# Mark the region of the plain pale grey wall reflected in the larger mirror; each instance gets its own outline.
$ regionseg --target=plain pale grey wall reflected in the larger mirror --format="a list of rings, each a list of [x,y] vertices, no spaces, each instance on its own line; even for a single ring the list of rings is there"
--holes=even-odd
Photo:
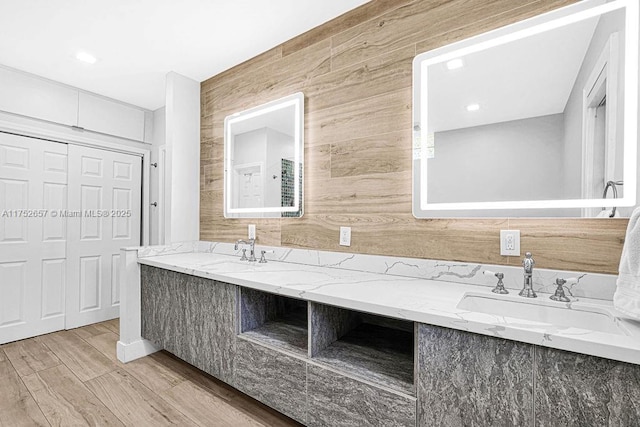
[[[555,199],[562,194],[562,140],[562,114],[436,133],[428,200]]]

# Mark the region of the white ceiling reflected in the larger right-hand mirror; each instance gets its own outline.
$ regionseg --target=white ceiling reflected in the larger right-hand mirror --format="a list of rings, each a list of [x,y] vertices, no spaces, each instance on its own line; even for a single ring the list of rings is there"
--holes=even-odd
[[[564,111],[598,17],[429,67],[429,124],[443,132]],[[466,111],[477,103],[480,110]]]

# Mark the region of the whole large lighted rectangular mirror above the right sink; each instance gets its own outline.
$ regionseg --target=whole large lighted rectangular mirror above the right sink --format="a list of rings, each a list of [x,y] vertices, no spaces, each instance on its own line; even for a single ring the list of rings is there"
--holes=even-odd
[[[414,215],[628,216],[638,19],[587,0],[418,55]]]

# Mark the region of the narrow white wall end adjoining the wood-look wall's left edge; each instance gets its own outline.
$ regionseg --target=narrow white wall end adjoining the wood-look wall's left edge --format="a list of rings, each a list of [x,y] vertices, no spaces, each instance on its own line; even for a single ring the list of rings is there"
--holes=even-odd
[[[200,83],[167,74],[165,243],[200,238]]]

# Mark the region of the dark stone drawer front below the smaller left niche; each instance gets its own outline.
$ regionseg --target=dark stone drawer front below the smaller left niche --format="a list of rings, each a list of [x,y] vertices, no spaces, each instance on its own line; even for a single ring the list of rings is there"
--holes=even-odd
[[[307,363],[242,338],[236,350],[235,387],[305,423]]]

